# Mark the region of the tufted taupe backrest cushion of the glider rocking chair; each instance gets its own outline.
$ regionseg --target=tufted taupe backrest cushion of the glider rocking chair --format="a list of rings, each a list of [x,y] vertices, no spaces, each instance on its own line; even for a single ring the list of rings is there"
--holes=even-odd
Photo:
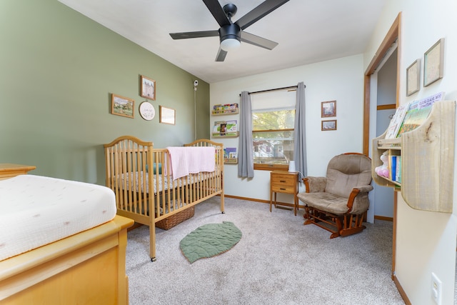
[[[328,162],[326,193],[347,199],[353,187],[369,184],[371,184],[371,159],[368,157],[358,154],[340,154]]]

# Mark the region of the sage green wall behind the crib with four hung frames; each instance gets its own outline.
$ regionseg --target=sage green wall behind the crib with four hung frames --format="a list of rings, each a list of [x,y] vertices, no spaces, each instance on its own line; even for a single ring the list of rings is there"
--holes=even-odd
[[[195,76],[56,0],[0,1],[0,163],[104,185],[103,144],[133,135],[154,147],[194,141]],[[139,76],[156,81],[152,121],[139,116]],[[111,114],[111,93],[135,100]],[[199,79],[197,138],[209,138],[209,84]],[[159,105],[176,125],[159,124]]]

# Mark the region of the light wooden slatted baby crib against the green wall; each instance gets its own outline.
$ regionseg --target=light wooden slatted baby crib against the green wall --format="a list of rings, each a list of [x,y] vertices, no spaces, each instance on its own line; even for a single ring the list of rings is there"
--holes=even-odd
[[[224,213],[223,144],[201,139],[184,146],[214,147],[216,170],[174,180],[171,173],[164,170],[171,168],[167,149],[153,149],[152,142],[134,136],[120,136],[104,145],[106,186],[116,194],[117,214],[149,226],[151,261],[156,261],[158,221],[176,216],[217,195],[221,196],[221,212]]]

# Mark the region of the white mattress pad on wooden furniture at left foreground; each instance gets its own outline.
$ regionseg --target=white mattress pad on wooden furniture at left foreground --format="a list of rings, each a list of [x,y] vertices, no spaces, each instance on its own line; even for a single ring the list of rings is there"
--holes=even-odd
[[[21,175],[0,181],[0,261],[104,224],[116,216],[106,186]]]

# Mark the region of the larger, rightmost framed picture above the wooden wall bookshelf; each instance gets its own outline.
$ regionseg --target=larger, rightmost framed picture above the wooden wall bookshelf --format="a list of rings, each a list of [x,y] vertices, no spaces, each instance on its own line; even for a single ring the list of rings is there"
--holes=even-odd
[[[436,41],[423,54],[423,86],[426,87],[438,79],[443,78],[444,66],[444,39]]]

